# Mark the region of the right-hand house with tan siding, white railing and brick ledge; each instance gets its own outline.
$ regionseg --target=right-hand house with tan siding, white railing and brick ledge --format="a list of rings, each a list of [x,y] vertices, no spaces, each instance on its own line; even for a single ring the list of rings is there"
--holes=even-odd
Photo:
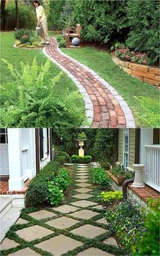
[[[144,187],[127,186],[129,199],[146,206],[147,198],[158,198],[160,191],[160,145],[159,129],[119,129],[117,141],[117,162],[125,168],[134,169],[133,164],[144,164],[141,171]],[[115,188],[121,187],[114,183]]]

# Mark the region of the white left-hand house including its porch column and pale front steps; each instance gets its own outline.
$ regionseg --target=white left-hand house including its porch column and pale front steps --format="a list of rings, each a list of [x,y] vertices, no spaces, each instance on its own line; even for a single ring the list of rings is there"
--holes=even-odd
[[[24,207],[26,183],[52,160],[52,130],[0,129],[0,242]]]

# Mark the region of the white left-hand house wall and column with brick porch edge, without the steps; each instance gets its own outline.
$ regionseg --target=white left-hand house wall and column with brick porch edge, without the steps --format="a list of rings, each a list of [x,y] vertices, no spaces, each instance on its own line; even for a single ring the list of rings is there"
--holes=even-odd
[[[52,130],[1,128],[0,136],[1,197],[20,194],[25,182],[52,159]]]

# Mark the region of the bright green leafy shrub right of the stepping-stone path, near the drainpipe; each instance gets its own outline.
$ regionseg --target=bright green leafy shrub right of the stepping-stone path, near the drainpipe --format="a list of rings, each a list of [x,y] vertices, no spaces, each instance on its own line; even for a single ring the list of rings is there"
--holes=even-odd
[[[102,189],[110,189],[111,188],[111,178],[106,173],[106,170],[102,168],[92,168],[91,169],[92,182],[96,185],[100,185]]]

